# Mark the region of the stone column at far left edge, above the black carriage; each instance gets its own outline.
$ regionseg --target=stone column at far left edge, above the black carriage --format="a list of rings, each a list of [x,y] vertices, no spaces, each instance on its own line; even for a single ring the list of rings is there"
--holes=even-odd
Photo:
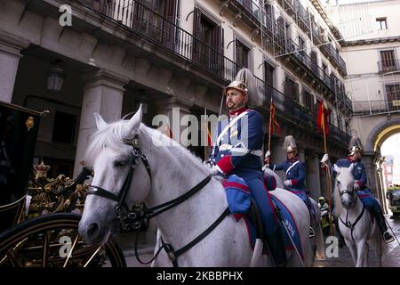
[[[12,102],[20,51],[28,45],[28,40],[0,29],[0,101]]]

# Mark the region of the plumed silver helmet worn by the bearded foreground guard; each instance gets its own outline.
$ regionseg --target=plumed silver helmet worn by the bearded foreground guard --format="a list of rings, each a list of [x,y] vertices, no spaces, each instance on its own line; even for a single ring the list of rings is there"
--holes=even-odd
[[[236,74],[235,80],[224,88],[224,94],[230,88],[247,94],[247,105],[250,108],[259,107],[264,100],[263,94],[259,92],[259,88],[257,87],[256,78],[252,75],[250,69],[240,69]]]

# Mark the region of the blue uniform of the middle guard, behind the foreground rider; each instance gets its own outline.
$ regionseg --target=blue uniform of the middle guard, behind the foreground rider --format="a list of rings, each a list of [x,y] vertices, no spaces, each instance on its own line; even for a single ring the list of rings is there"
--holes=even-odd
[[[273,171],[284,170],[286,179],[290,180],[292,183],[291,186],[285,186],[285,188],[302,199],[309,208],[306,186],[304,184],[306,180],[306,166],[304,162],[301,162],[297,158],[286,159],[278,165],[269,164],[269,168]]]

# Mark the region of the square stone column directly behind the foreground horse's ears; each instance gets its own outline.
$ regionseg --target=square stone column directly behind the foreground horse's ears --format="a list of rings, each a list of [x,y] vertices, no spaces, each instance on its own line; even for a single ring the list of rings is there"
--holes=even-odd
[[[84,151],[90,143],[92,134],[97,131],[93,113],[99,113],[107,123],[120,119],[124,85],[128,84],[129,78],[101,69],[85,74],[84,82],[86,84],[76,146],[74,177],[81,171],[80,160],[84,159]]]

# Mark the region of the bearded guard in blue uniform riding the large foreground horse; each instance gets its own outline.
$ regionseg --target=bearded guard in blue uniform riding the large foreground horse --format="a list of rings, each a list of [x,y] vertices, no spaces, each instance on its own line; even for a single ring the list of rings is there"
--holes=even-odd
[[[236,80],[224,89],[229,115],[217,126],[210,157],[212,172],[214,175],[235,174],[244,179],[260,209],[271,255],[277,266],[284,266],[287,262],[284,236],[261,171],[263,120],[258,111],[249,108],[260,102],[252,79],[249,69],[241,69]]]

